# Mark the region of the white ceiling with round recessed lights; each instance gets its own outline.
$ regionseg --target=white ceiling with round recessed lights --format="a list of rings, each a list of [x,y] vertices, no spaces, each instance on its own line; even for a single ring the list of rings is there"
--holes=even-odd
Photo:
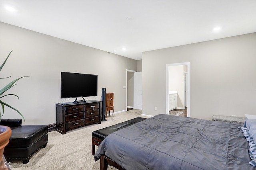
[[[256,0],[0,0],[0,21],[138,60],[256,32]]]

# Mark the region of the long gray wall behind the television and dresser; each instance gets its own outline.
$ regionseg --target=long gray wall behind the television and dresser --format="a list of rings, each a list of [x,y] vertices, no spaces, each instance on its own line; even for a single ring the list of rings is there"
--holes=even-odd
[[[122,86],[126,86],[126,69],[136,70],[136,60],[0,22],[1,64],[12,49],[0,72],[0,77],[12,78],[1,79],[0,88],[20,76],[30,76],[19,80],[9,91],[19,100],[15,96],[2,99],[24,115],[23,124],[55,123],[54,104],[63,101],[62,71],[98,74],[98,96],[88,100],[101,100],[101,89],[106,88],[106,92],[114,92],[115,112],[126,109],[126,89]],[[3,118],[21,117],[5,107]]]

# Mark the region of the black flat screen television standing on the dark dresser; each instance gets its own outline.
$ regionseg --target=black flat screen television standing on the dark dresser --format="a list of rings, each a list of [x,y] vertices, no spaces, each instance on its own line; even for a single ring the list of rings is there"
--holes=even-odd
[[[60,89],[60,98],[76,98],[74,102],[79,102],[78,97],[97,96],[98,75],[61,72]]]

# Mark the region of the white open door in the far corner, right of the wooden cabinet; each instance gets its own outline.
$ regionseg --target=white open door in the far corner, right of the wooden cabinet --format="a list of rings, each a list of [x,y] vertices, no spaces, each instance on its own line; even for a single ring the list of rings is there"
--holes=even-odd
[[[142,110],[142,72],[134,72],[134,109]]]

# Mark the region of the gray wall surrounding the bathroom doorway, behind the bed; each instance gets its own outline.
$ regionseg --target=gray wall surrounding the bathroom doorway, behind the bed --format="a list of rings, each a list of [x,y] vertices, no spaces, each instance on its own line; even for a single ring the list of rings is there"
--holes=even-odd
[[[190,62],[191,117],[255,115],[255,47],[250,33],[142,53],[142,113],[166,113],[166,64]]]

